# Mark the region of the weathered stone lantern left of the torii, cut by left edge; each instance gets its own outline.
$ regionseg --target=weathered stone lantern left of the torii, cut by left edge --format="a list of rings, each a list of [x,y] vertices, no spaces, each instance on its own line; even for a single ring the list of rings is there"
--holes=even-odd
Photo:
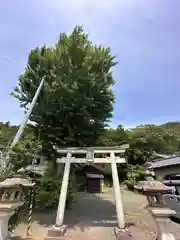
[[[32,187],[20,169],[12,178],[0,182],[0,240],[8,239],[8,222],[15,210],[24,204],[24,188]]]

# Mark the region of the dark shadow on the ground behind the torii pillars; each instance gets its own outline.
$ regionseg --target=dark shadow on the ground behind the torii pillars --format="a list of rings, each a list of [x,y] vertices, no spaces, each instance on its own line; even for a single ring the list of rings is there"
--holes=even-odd
[[[53,225],[55,219],[55,211],[33,216],[35,222],[45,227]],[[90,227],[115,227],[117,225],[115,205],[109,200],[102,199],[99,194],[77,193],[72,210],[65,213],[64,222],[68,228],[78,227],[81,231]]]

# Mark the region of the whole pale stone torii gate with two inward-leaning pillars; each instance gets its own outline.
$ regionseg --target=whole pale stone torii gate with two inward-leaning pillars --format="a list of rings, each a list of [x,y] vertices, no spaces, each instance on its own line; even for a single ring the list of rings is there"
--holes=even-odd
[[[58,149],[57,152],[60,154],[66,154],[66,157],[61,157],[57,159],[57,163],[65,163],[64,175],[62,179],[61,193],[59,197],[59,204],[56,216],[56,223],[48,231],[48,237],[46,240],[58,239],[65,234],[67,226],[64,225],[64,212],[65,204],[68,190],[69,174],[71,163],[110,163],[112,170],[113,188],[116,204],[116,214],[117,214],[117,231],[124,232],[125,222],[124,222],[124,212],[122,197],[119,185],[119,177],[117,171],[117,163],[125,163],[124,153],[126,149],[129,148],[128,144],[124,144],[119,147],[90,147],[90,148],[65,148]],[[85,154],[84,158],[75,157],[76,154]],[[98,155],[108,154],[110,157],[96,157]],[[116,154],[123,154],[123,157],[116,156]]]

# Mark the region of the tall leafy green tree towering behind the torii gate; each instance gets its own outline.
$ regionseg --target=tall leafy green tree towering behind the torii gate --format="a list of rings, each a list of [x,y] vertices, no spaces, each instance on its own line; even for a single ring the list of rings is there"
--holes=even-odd
[[[60,34],[52,47],[32,50],[13,95],[27,108],[45,77],[31,114],[35,131],[48,147],[94,145],[112,117],[115,57],[93,45],[82,27]]]

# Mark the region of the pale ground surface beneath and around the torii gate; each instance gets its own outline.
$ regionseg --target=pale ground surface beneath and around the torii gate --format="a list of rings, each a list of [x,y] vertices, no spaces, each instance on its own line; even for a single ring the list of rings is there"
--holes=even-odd
[[[154,221],[145,206],[146,198],[126,190],[122,190],[125,218],[136,224],[138,240],[153,240],[156,233]],[[33,236],[43,240],[49,226],[54,224],[55,214],[34,214]],[[103,194],[88,195],[78,193],[73,204],[73,210],[67,211],[65,223],[68,233],[65,239],[73,240],[111,240],[113,229],[117,225],[112,189],[106,189]],[[27,224],[22,223],[16,230],[18,235],[25,235]],[[132,227],[132,231],[133,231]],[[170,230],[180,240],[180,225],[170,224]],[[178,236],[179,235],[179,236]]]

